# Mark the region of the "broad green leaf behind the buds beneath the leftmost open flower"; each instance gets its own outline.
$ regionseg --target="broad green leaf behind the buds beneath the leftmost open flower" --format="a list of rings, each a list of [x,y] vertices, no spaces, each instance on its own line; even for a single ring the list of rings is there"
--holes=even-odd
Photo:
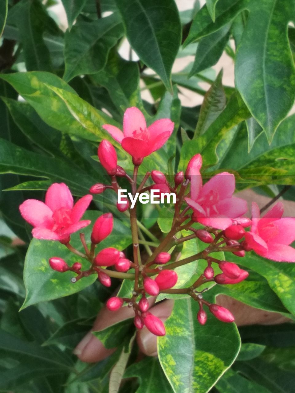
[[[99,212],[89,211],[85,213],[84,217],[85,219],[91,219],[92,223],[94,223],[98,215]],[[90,238],[91,230],[91,224],[83,229],[87,240]],[[77,250],[82,251],[83,246],[79,238],[79,233],[74,233],[71,239],[71,244]],[[128,231],[128,228],[120,221],[115,220],[111,235],[98,246],[98,250],[110,246],[115,246],[119,250],[123,250],[131,242],[131,233]],[[70,281],[75,276],[73,272],[59,273],[50,268],[48,259],[52,256],[59,256],[65,259],[70,266],[78,259],[82,263],[83,269],[89,268],[88,261],[71,253],[63,244],[54,241],[33,239],[28,248],[24,265],[26,299],[22,305],[22,309],[40,301],[48,301],[74,294],[91,285],[97,279],[96,274],[92,274],[89,277],[83,277],[83,279],[73,284]]]

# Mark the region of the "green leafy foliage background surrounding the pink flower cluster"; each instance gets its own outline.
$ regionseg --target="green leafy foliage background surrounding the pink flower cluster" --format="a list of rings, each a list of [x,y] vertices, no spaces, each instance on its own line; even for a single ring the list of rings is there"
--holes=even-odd
[[[196,2],[194,9],[179,14],[181,22],[172,0],[102,0],[102,19],[94,1],[63,4],[70,26],[78,17],[65,32],[50,11],[51,1],[0,1],[0,29],[6,19],[0,47],[0,189],[10,190],[0,193],[0,391],[291,393],[293,323],[240,328],[240,349],[234,326],[210,319],[205,328],[196,325],[195,306],[188,299],[175,303],[167,337],[159,341],[160,361],[135,362],[128,321],[97,333],[105,345],[120,343],[112,356],[98,364],[77,361],[72,349],[118,283],[106,289],[89,277],[73,286],[68,273],[52,272],[48,257],[70,256],[61,245],[31,241],[18,205],[26,198],[42,199],[54,181],[65,181],[81,196],[102,180],[96,147],[108,136],[101,125],[121,123],[125,108],[132,105],[144,110],[149,123],[170,117],[176,124],[167,147],[144,160],[142,172],[172,174],[201,152],[204,176],[232,170],[238,189],[254,187],[269,196],[291,185],[284,198],[293,200],[294,118],[288,113],[295,94],[295,35],[292,26],[287,29],[293,0],[207,0],[208,9],[201,10]],[[181,31],[188,45],[180,47]],[[118,55],[126,34],[139,63],[134,54],[127,59]],[[175,57],[186,56],[194,62],[173,71],[170,83]],[[235,61],[237,89],[227,79],[221,84],[214,66],[221,56]],[[121,165],[130,165],[124,152],[118,154]],[[98,196],[89,217],[94,220],[101,209]],[[166,231],[169,214],[168,207],[159,217],[143,211],[142,222]],[[122,215],[117,215],[115,228],[103,246],[128,247],[131,239]],[[186,244],[183,255],[198,247],[195,241]],[[216,285],[208,292],[212,298],[230,294],[294,318],[292,264],[254,255],[232,261],[249,270],[249,279],[234,288]],[[181,285],[201,268],[201,262],[186,267]],[[179,348],[187,349],[186,356]]]

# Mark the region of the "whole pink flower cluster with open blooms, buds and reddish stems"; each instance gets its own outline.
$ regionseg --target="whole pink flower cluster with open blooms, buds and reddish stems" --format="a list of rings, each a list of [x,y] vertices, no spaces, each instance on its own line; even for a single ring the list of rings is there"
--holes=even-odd
[[[144,157],[162,147],[173,132],[173,127],[170,119],[157,120],[147,127],[143,114],[137,108],[126,110],[124,132],[112,125],[104,125],[103,128],[132,156],[134,171],[133,175],[129,176],[124,168],[118,166],[116,150],[109,141],[103,140],[98,147],[98,158],[111,181],[110,184],[98,183],[90,187],[92,194],[103,193],[106,189],[118,193],[120,178],[123,177],[130,183],[132,196],[152,189],[158,189],[160,194],[176,194],[170,232],[164,239],[160,239],[158,244],[151,243],[153,250],[149,247],[150,242],[145,239],[142,241],[147,247],[148,257],[144,258],[140,253],[136,204],[131,208],[127,197],[123,202],[117,203],[117,208],[119,212],[129,209],[133,239],[132,261],[124,252],[113,247],[96,252],[97,244],[103,242],[112,231],[111,213],[101,215],[94,222],[90,245],[85,235],[80,233],[84,253],[70,244],[70,235],[90,224],[89,220],[80,219],[92,200],[91,195],[83,196],[74,205],[68,187],[63,183],[55,183],[49,187],[45,203],[26,200],[20,205],[22,217],[34,227],[33,237],[59,241],[79,258],[90,263],[88,269],[82,270],[83,265],[79,261],[69,266],[60,257],[52,257],[49,264],[53,270],[61,273],[73,272],[76,274],[76,277],[72,277],[73,283],[90,274],[97,274],[99,281],[105,286],[111,286],[111,277],[133,280],[134,287],[130,297],[112,297],[107,301],[106,307],[111,311],[120,309],[124,303],[128,307],[133,307],[136,328],[142,329],[146,326],[157,336],[165,334],[165,327],[159,318],[149,312],[152,301],[149,301],[148,297],[157,297],[159,293],[187,294],[195,299],[199,304],[197,320],[201,325],[204,325],[207,319],[204,306],[219,320],[234,321],[229,310],[203,299],[201,292],[208,288],[203,291],[198,289],[208,282],[234,285],[245,280],[249,273],[236,263],[212,257],[212,253],[222,251],[245,257],[246,252],[253,250],[258,255],[274,261],[295,261],[295,250],[289,246],[295,239],[295,219],[282,218],[282,204],[278,202],[260,218],[258,206],[253,202],[252,218],[245,217],[246,201],[233,196],[234,175],[228,172],[219,173],[203,184],[200,154],[195,154],[185,170],[175,174],[173,181],[168,181],[164,173],[153,170],[151,173],[147,172],[138,185],[139,165]],[[182,230],[190,231],[191,234],[183,237]],[[148,230],[145,233],[147,236],[152,235]],[[152,237],[155,240],[153,235]],[[173,248],[194,238],[204,243],[203,250],[184,259],[175,258]],[[199,277],[195,277],[195,282],[191,286],[175,288],[178,280],[175,269],[187,263],[194,263],[198,259],[206,261],[205,270]]]

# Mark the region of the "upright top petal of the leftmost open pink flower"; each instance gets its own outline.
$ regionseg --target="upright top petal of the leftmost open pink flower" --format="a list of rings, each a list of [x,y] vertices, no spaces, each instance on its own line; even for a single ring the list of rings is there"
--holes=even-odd
[[[53,183],[46,192],[45,203],[52,211],[60,208],[72,209],[73,197],[70,189],[65,183]]]

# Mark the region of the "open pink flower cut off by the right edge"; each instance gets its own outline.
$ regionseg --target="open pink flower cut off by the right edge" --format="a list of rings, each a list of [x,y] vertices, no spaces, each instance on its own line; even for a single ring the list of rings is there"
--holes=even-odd
[[[278,202],[260,219],[260,211],[252,202],[252,226],[245,233],[247,248],[277,262],[295,262],[295,250],[289,246],[295,240],[295,218],[283,217],[282,202]]]

